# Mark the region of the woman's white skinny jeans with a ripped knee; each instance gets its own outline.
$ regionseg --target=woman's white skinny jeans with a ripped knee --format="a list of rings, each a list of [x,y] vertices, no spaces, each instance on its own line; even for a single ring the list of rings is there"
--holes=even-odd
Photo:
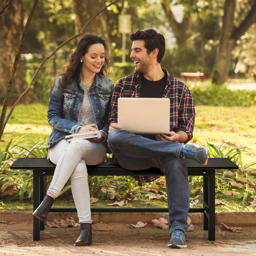
[[[62,139],[49,148],[48,160],[57,166],[47,193],[57,197],[70,177],[79,223],[92,222],[86,165],[99,165],[105,158],[105,145],[89,140]]]

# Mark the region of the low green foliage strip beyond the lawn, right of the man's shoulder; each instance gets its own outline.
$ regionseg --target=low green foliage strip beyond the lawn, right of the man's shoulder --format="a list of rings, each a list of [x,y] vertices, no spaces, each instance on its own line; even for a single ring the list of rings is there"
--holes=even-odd
[[[195,105],[211,106],[253,106],[256,100],[256,91],[232,91],[225,84],[218,85],[210,82],[187,85]]]

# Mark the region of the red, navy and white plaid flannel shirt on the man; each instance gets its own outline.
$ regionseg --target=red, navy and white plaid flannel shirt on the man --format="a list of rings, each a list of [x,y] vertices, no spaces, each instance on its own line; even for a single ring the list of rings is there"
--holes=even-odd
[[[195,124],[195,107],[193,98],[187,86],[175,77],[170,75],[165,68],[163,72],[167,73],[167,83],[163,92],[163,98],[170,99],[170,131],[184,131],[188,135],[187,143],[193,138],[193,129]],[[114,89],[111,101],[111,110],[109,123],[117,123],[117,99],[119,97],[140,97],[141,78],[140,73],[135,72],[120,79]],[[133,176],[140,182],[156,180],[160,176]]]

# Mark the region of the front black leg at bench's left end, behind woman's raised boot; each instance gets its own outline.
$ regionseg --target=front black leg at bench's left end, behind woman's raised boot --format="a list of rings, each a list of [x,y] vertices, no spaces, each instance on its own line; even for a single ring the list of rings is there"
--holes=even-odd
[[[39,207],[39,171],[33,170],[33,211]],[[40,239],[40,220],[33,216],[33,240]]]

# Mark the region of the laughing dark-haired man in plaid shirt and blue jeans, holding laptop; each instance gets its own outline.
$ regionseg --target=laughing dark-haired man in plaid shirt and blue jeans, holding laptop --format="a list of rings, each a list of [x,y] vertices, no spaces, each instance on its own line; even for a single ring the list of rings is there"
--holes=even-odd
[[[195,108],[186,85],[168,71],[160,62],[165,52],[165,38],[154,29],[137,30],[130,34],[130,57],[135,73],[120,79],[114,89],[109,116],[108,144],[119,164],[130,170],[159,168],[166,177],[169,209],[168,247],[187,247],[187,214],[189,186],[187,167],[183,157],[206,165],[207,147],[186,145],[193,137]],[[170,98],[170,133],[146,138],[122,130],[117,124],[117,99],[119,97]]]

